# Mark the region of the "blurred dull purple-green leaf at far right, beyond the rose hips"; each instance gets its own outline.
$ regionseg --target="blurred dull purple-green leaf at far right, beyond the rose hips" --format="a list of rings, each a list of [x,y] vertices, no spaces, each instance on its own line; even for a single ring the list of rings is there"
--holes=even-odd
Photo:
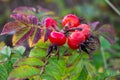
[[[107,39],[111,44],[115,43],[115,32],[111,25],[104,24],[98,29],[98,33]]]

